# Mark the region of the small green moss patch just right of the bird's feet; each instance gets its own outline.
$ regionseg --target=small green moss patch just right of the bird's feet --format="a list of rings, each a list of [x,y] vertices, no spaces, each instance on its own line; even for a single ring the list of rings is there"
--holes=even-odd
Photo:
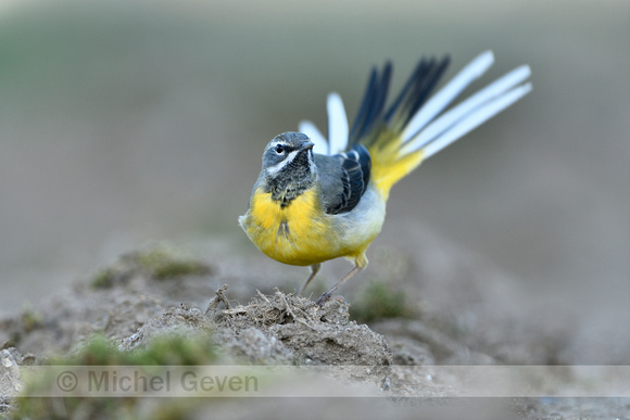
[[[413,309],[405,302],[402,291],[393,291],[382,281],[370,281],[362,295],[350,306],[350,316],[357,322],[380,318],[411,318]]]

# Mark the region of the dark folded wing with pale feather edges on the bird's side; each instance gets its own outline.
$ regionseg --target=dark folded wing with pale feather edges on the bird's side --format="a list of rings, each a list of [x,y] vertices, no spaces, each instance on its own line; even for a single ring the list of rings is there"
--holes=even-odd
[[[342,191],[325,209],[326,213],[336,215],[350,212],[358,204],[369,182],[371,158],[362,144],[354,144],[350,151],[331,157],[341,163]]]

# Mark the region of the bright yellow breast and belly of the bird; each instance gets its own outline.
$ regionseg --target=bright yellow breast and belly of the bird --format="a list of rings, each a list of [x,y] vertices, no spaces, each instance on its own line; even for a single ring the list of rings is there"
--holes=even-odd
[[[316,190],[304,192],[285,208],[270,193],[256,191],[239,222],[265,255],[285,264],[308,266],[365,251],[341,243],[332,216],[322,211]]]

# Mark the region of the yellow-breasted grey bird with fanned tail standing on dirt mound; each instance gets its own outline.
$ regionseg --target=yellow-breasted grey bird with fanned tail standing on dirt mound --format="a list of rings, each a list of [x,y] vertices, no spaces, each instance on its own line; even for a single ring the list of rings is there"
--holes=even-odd
[[[345,257],[354,267],[315,302],[367,266],[366,251],[381,231],[391,188],[420,163],[511,106],[531,91],[521,65],[450,105],[494,63],[492,51],[477,55],[436,93],[450,58],[421,58],[394,100],[386,106],[392,64],[370,72],[352,126],[341,97],[327,98],[328,139],[310,120],[299,131],[276,136],[265,147],[262,169],[239,225],[268,257],[311,273],[322,263]]]

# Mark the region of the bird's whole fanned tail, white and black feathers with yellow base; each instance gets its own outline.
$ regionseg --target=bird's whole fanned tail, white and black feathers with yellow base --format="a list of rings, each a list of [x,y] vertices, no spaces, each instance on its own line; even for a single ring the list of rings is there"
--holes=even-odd
[[[449,58],[423,59],[401,93],[386,111],[391,63],[371,71],[366,92],[349,129],[341,98],[328,96],[329,140],[310,122],[300,130],[315,142],[317,153],[335,154],[364,144],[371,155],[371,180],[387,200],[401,178],[455,140],[490,119],[531,90],[531,71],[522,65],[505,74],[459,104],[445,111],[494,63],[492,51],[479,54],[430,99],[449,65]],[[445,112],[444,112],[445,111]]]

